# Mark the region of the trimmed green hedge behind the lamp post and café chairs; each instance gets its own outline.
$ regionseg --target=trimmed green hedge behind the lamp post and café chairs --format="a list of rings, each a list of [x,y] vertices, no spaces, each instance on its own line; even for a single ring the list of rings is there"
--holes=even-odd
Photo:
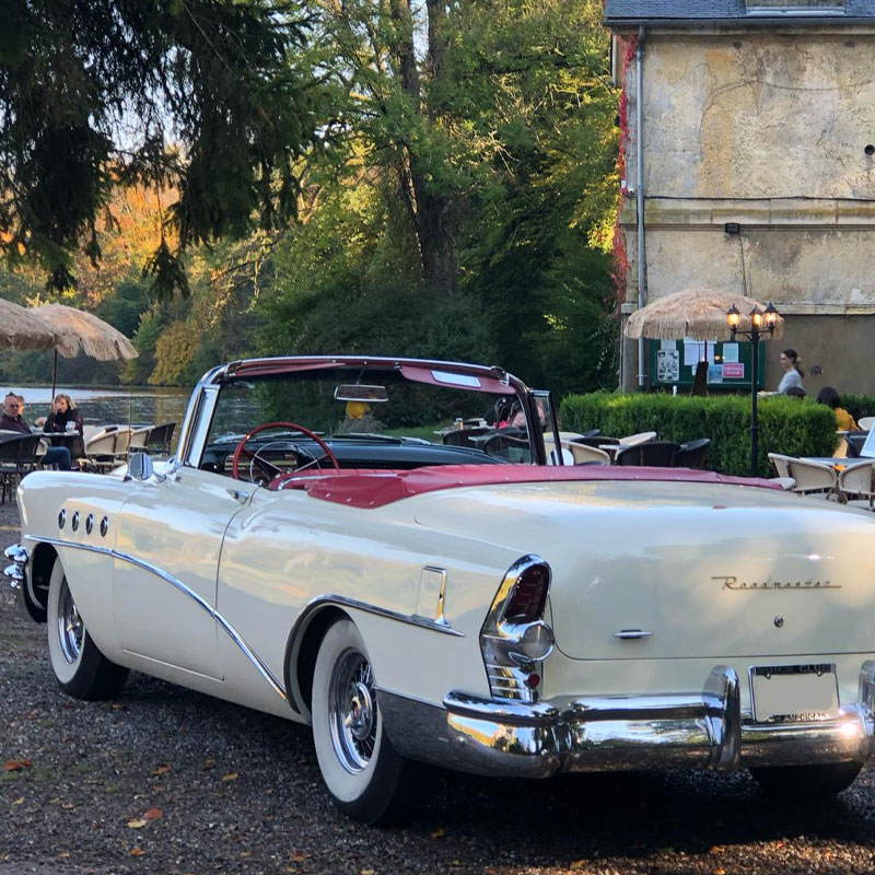
[[[758,401],[758,472],[772,474],[768,453],[788,456],[831,456],[836,447],[832,410],[809,399],[784,396]],[[672,396],[596,392],[569,395],[559,408],[560,428],[622,436],[655,431],[661,441],[710,438],[708,467],[721,474],[750,474],[750,398],[730,396]]]

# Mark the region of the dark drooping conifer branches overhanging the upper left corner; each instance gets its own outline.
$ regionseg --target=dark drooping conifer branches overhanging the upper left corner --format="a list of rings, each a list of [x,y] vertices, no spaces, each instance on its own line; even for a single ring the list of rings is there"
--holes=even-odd
[[[285,223],[318,144],[299,0],[0,0],[0,246],[74,283],[113,187],[173,187],[145,269],[186,291],[188,246]],[[112,221],[112,219],[109,220]]]

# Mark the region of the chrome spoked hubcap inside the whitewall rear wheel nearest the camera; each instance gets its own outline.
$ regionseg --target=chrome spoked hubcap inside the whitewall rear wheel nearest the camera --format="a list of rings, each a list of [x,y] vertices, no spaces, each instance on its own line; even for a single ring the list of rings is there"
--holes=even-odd
[[[376,744],[376,701],[371,666],[350,651],[338,660],[329,691],[331,743],[343,768],[368,768]]]

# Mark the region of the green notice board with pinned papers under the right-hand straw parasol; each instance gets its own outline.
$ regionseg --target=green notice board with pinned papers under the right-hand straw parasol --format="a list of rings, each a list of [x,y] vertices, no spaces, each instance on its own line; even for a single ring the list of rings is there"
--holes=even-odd
[[[692,386],[699,362],[707,361],[709,388],[750,388],[754,345],[749,340],[648,340],[648,346],[652,386]],[[757,343],[757,388],[760,389],[765,362],[762,342]]]

